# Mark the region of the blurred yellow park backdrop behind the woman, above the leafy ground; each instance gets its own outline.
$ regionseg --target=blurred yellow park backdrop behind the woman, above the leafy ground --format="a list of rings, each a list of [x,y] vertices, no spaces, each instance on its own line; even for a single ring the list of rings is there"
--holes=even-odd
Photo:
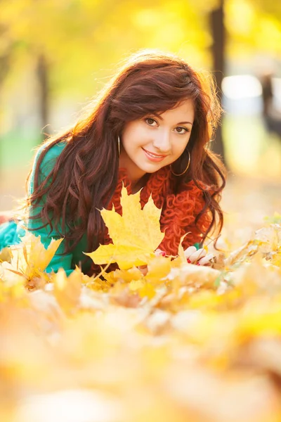
[[[226,110],[214,149],[239,186],[250,180],[249,191],[278,192],[280,2],[1,0],[0,9],[1,210],[25,195],[34,148],[46,134],[74,124],[119,63],[145,48],[214,72]]]

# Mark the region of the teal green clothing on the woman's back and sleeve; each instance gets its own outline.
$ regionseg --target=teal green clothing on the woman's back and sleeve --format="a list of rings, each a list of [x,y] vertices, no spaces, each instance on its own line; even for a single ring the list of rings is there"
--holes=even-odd
[[[41,162],[39,168],[39,184],[46,179],[48,174],[53,169],[55,165],[55,161],[57,160],[60,153],[65,148],[65,142],[58,143],[52,146],[44,159]],[[29,193],[32,193],[34,190],[34,172],[37,165],[38,158],[41,152],[44,150],[45,146],[39,148],[37,155],[34,160],[34,165],[32,167],[32,173],[30,175],[30,186],[29,186]],[[37,215],[39,213],[39,208],[42,207],[43,202],[38,205],[38,207],[34,207],[30,210],[30,215]],[[45,226],[44,228],[38,229],[42,225],[41,219],[29,219],[27,223],[27,229],[30,229],[31,233],[35,236],[41,236],[41,243],[43,243],[45,248],[48,248],[48,245],[51,243],[51,239],[57,240],[61,238],[58,236],[58,233],[53,230],[49,225]],[[36,229],[36,230],[34,230]],[[15,224],[15,222],[8,222],[5,224],[1,224],[0,226],[0,250],[5,248],[6,246],[15,245],[20,243],[21,237],[25,236],[25,230],[20,227],[19,224]],[[199,244],[195,244],[196,248],[199,248]],[[87,250],[87,238],[86,233],[81,238],[81,241],[77,244],[74,250],[71,253],[67,253],[65,255],[61,255],[65,250],[64,241],[60,243],[60,247],[58,248],[57,252],[53,256],[50,264],[46,268],[46,272],[51,271],[58,271],[59,268],[63,268],[67,275],[69,275],[76,266],[80,266],[81,269],[86,274],[90,267],[91,267],[91,259],[88,257],[85,262],[85,257],[83,252]],[[83,262],[84,261],[84,262]]]

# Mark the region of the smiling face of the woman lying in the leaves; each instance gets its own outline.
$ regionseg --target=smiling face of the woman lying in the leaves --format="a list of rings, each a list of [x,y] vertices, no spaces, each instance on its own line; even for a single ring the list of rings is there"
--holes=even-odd
[[[176,161],[188,144],[195,112],[192,100],[125,124],[119,166],[126,168],[131,181],[145,173],[157,172]]]

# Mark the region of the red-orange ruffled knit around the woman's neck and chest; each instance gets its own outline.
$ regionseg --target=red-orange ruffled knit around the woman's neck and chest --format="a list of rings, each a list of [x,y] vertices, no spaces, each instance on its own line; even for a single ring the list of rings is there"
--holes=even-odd
[[[122,185],[127,188],[129,194],[132,193],[131,181],[128,179],[126,170],[119,169],[119,179],[117,188],[107,209],[111,210],[112,205],[115,211],[122,215],[120,196]],[[195,217],[202,211],[204,200],[202,190],[195,186],[193,181],[183,183],[178,193],[173,193],[175,177],[171,174],[169,167],[163,167],[159,171],[150,174],[145,186],[141,189],[141,207],[148,202],[150,194],[158,208],[162,207],[160,217],[161,231],[165,232],[164,239],[159,245],[167,255],[177,255],[178,245],[181,237],[188,233],[183,240],[183,248],[202,240],[201,231],[205,231],[210,224],[209,214],[206,212],[200,217],[195,226]],[[112,243],[108,231],[104,234],[103,244]],[[92,268],[93,269],[93,268]]]

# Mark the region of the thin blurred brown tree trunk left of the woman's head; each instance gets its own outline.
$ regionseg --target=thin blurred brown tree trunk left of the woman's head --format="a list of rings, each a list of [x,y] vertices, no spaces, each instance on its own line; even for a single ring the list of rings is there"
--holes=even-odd
[[[49,84],[48,63],[44,53],[37,57],[37,77],[39,81],[39,115],[41,126],[41,139],[48,137],[48,107],[49,107]]]

